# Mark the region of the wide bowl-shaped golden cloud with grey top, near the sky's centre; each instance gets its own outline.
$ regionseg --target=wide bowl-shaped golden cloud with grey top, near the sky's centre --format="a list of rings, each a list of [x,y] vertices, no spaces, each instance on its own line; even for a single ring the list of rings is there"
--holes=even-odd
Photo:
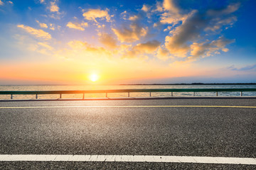
[[[144,37],[148,33],[148,28],[142,28],[137,23],[132,23],[129,28],[114,29],[115,35],[121,42],[134,42]]]

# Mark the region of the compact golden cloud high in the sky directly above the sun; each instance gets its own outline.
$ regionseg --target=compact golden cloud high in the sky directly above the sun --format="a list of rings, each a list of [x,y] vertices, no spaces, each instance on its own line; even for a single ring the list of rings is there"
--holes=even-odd
[[[110,21],[110,15],[108,10],[100,10],[100,9],[89,9],[88,11],[82,13],[82,16],[87,20],[96,21],[96,18],[105,18],[106,21]]]

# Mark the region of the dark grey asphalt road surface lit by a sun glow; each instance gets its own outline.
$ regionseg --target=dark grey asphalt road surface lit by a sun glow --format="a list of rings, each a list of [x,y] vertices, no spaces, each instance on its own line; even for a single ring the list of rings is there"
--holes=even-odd
[[[0,154],[256,157],[256,99],[0,102]],[[1,169],[256,169],[255,165],[150,162],[0,162]]]

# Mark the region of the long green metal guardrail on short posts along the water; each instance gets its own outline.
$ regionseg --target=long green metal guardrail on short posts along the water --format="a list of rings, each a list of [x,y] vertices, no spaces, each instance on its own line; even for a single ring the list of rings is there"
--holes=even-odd
[[[195,96],[196,92],[215,92],[216,96],[218,96],[218,92],[240,92],[240,96],[242,96],[242,92],[245,91],[256,91],[256,89],[119,89],[119,90],[90,90],[90,91],[0,91],[0,95],[11,95],[11,99],[13,99],[14,94],[35,94],[36,99],[39,94],[60,94],[60,98],[62,98],[62,94],[83,94],[82,99],[85,98],[85,94],[107,94],[110,93],[127,93],[128,97],[130,93],[151,93],[153,92],[171,92],[171,96],[174,96],[174,92],[193,92],[193,96]]]

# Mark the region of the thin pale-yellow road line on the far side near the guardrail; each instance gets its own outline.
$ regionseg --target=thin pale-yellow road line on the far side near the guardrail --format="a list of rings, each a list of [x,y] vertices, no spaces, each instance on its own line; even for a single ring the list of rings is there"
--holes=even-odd
[[[256,108],[256,106],[3,106],[1,108]]]

